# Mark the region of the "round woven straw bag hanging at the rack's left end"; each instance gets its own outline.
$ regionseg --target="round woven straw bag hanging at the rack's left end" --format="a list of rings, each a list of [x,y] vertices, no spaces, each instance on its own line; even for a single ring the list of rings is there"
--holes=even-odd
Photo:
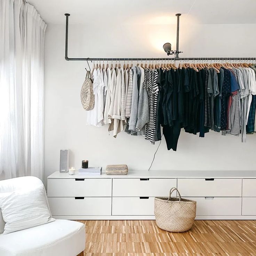
[[[94,108],[93,80],[90,71],[87,71],[85,81],[81,88],[81,102],[85,110]]]

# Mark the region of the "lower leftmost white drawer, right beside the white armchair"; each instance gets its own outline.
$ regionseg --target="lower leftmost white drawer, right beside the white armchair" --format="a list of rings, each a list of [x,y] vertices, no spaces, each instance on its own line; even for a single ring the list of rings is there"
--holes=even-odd
[[[49,197],[52,215],[111,215],[111,197]]]

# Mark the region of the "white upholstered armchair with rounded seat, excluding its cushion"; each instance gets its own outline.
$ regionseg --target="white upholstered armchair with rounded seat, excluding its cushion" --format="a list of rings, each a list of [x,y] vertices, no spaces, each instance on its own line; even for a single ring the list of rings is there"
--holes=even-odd
[[[0,181],[1,193],[14,192],[24,186],[31,189],[42,185],[36,177],[19,177]],[[85,225],[75,221],[56,221],[29,229],[2,234],[5,222],[0,209],[1,256],[83,256],[85,249]]]

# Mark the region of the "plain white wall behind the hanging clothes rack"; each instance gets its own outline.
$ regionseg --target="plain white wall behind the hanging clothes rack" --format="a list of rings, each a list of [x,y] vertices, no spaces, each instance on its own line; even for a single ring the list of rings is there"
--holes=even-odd
[[[246,57],[255,55],[255,24],[181,26],[179,49],[184,57]],[[175,49],[175,25],[103,23],[102,27],[70,25],[69,57],[167,57],[165,42]],[[125,163],[129,169],[148,169],[159,142],[122,132],[113,138],[107,126],[86,126],[80,102],[84,61],[65,61],[65,27],[48,24],[45,38],[45,177],[59,169],[59,150],[70,149],[70,166]],[[177,152],[167,151],[163,138],[152,170],[254,170],[256,136],[205,138],[182,131]]]

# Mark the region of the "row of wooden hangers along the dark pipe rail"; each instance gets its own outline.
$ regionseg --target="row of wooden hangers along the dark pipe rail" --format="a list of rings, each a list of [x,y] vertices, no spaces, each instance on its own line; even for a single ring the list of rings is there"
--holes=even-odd
[[[225,67],[226,69],[232,69],[234,67],[249,67],[249,66],[252,66],[253,64],[252,63],[229,63],[229,62],[225,62],[225,63],[179,63],[178,67],[175,65],[175,63],[149,63],[149,66],[147,66],[147,63],[145,62],[145,64],[141,63],[141,67],[143,69],[146,69],[146,68],[149,68],[149,69],[159,69],[159,68],[162,68],[162,69],[165,69],[165,70],[169,70],[169,69],[178,69],[178,68],[182,68],[184,67],[185,69],[188,68],[188,67],[191,67],[193,68],[195,71],[199,71],[201,69],[209,69],[209,68],[213,68],[217,73],[219,73],[219,70],[221,69],[221,67]],[[139,63],[137,63],[137,66],[139,66]],[[115,63],[115,68],[121,68],[121,64],[120,62]],[[131,65],[129,65],[129,63],[127,64],[123,64],[123,69],[129,69],[133,67],[133,63],[131,63]],[[103,62],[102,66],[101,66],[101,62],[96,63],[96,66],[95,66],[95,63],[93,64],[93,69],[105,69],[105,64]],[[106,69],[109,68],[109,63],[107,62],[106,64]],[[113,69],[114,66],[113,66],[113,62],[111,62],[111,65],[110,65],[110,68]]]

